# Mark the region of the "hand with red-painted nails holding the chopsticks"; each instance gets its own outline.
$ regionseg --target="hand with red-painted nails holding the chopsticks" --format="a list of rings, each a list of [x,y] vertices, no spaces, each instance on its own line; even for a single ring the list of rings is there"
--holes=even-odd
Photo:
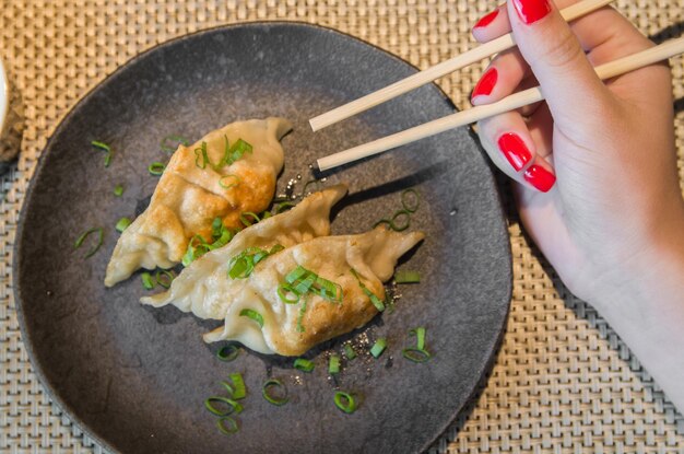
[[[546,102],[481,121],[480,138],[517,182],[521,220],[562,280],[600,312],[614,310],[635,280],[660,271],[662,254],[684,252],[669,68],[599,80],[592,66],[652,46],[610,8],[568,26],[545,0],[510,0],[473,35],[511,28],[518,49],[492,61],[472,103],[538,84]]]

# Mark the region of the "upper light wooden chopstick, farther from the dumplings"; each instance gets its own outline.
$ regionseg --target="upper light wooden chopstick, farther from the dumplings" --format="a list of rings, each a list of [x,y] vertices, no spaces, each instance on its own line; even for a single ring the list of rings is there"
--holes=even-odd
[[[570,22],[575,19],[581,18],[585,14],[595,11],[601,7],[605,7],[612,0],[583,0],[564,9],[563,11],[561,11],[561,14],[563,15],[563,19],[565,19],[567,22]],[[333,125],[345,118],[354,116],[358,113],[367,110],[370,107],[375,107],[378,104],[382,104],[384,102],[397,97],[401,94],[410,92],[413,89],[425,85],[426,83],[432,82],[435,79],[439,79],[443,75],[451,73],[458,69],[464,68],[484,58],[491,57],[494,54],[510,49],[515,45],[516,43],[514,40],[512,34],[509,33],[508,35],[500,36],[464,54],[458,55],[449,60],[435,65],[432,68],[416,72],[413,75],[394,82],[391,85],[386,86],[385,89],[380,89],[377,92],[367,94],[363,97],[359,97],[358,100],[352,101],[351,103],[344,104],[340,107],[333,108],[330,112],[314,117],[309,120],[309,124],[311,125],[311,129],[314,131],[317,131],[327,126]]]

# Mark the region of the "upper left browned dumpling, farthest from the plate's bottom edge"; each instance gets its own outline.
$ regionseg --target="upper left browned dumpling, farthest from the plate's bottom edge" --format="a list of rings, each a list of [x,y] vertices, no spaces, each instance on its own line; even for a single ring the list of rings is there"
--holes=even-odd
[[[240,225],[240,213],[267,209],[283,167],[280,139],[291,129],[284,118],[237,121],[190,147],[179,145],[150,206],[119,237],[105,286],[128,279],[141,267],[180,263],[193,235],[211,237],[214,218],[231,229]]]

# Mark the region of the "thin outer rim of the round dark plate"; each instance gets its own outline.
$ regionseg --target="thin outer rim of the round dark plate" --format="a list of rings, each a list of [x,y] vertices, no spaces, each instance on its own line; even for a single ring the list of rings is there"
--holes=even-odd
[[[87,423],[85,423],[76,414],[75,409],[67,404],[61,396],[59,395],[59,393],[57,393],[51,383],[47,380],[45,372],[43,370],[43,364],[37,361],[36,359],[36,353],[34,351],[34,344],[31,340],[32,336],[30,335],[30,333],[26,329],[26,322],[25,322],[25,315],[24,315],[24,302],[22,299],[22,292],[21,292],[21,287],[20,287],[20,273],[19,273],[19,261],[20,261],[20,257],[22,256],[21,251],[22,251],[22,244],[24,243],[24,223],[25,223],[25,218],[26,218],[26,207],[31,205],[31,201],[33,200],[34,197],[34,189],[36,186],[36,181],[39,178],[40,174],[44,172],[44,167],[45,167],[45,161],[46,161],[46,156],[49,153],[49,151],[51,150],[51,147],[56,140],[56,138],[61,133],[62,129],[67,127],[67,124],[69,123],[69,120],[76,115],[76,112],[79,109],[81,109],[83,107],[84,104],[86,104],[89,102],[89,100],[91,97],[93,97],[95,95],[96,92],[98,92],[103,86],[105,86],[108,83],[111,83],[111,80],[115,79],[120,72],[127,70],[129,67],[135,65],[139,60],[146,58],[149,54],[153,54],[160,49],[163,49],[165,47],[168,46],[173,46],[176,45],[178,43],[182,43],[186,40],[191,40],[198,36],[201,35],[208,35],[211,33],[216,33],[216,32],[222,32],[222,31],[229,31],[233,28],[249,28],[249,27],[255,27],[255,28],[263,28],[264,26],[295,26],[295,27],[302,27],[302,28],[316,28],[320,32],[325,32],[325,33],[329,33],[332,35],[340,35],[344,38],[351,38],[353,42],[356,43],[362,43],[365,44],[366,46],[369,46],[376,50],[381,51],[385,56],[390,57],[403,65],[405,65],[408,68],[410,68],[411,70],[414,71],[421,71],[421,69],[418,67],[416,67],[415,65],[411,63],[410,61],[405,60],[404,58],[393,54],[390,50],[387,50],[374,43],[370,43],[364,38],[361,38],[358,36],[354,36],[350,33],[340,31],[338,28],[333,28],[331,26],[325,26],[325,25],[320,25],[320,24],[316,24],[316,23],[309,23],[309,22],[305,22],[305,21],[286,21],[286,20],[258,20],[258,21],[246,21],[246,22],[237,22],[237,23],[232,23],[232,24],[221,24],[221,25],[216,25],[216,26],[212,26],[212,27],[208,27],[208,28],[202,28],[202,30],[198,30],[196,32],[191,32],[188,34],[184,34],[180,36],[176,36],[173,37],[170,39],[167,39],[163,43],[157,43],[154,46],[139,53],[135,54],[133,57],[131,57],[130,59],[128,59],[127,61],[125,61],[123,63],[119,65],[116,67],[116,69],[114,71],[111,71],[110,73],[108,73],[104,79],[102,79],[101,81],[98,81],[97,83],[95,83],[91,89],[87,90],[87,92],[85,94],[83,94],[76,102],[75,104],[69,108],[69,110],[61,117],[61,119],[59,119],[59,123],[57,125],[57,127],[52,130],[52,132],[50,133],[45,147],[43,148],[40,155],[38,156],[38,160],[35,164],[35,170],[33,175],[31,176],[31,179],[28,182],[28,186],[26,189],[26,193],[24,194],[24,198],[22,200],[21,203],[21,208],[20,208],[20,216],[16,222],[16,233],[15,233],[15,240],[14,240],[14,246],[13,246],[13,257],[12,257],[12,287],[13,287],[13,295],[14,295],[14,309],[16,311],[16,316],[17,316],[17,323],[19,323],[19,327],[20,327],[20,333],[21,333],[21,342],[24,347],[24,350],[26,351],[26,354],[28,357],[28,361],[31,363],[32,366],[32,372],[36,375],[36,377],[38,379],[40,385],[43,386],[43,391],[47,394],[48,398],[50,399],[50,404],[55,405],[58,407],[58,409],[63,412],[68,418],[69,421],[71,422],[72,427],[70,428],[71,434],[73,435],[74,432],[74,426],[75,428],[78,428],[83,435],[87,436],[90,440],[92,440],[93,442],[95,442],[96,444],[98,444],[101,447],[103,447],[104,450],[106,450],[107,452],[110,453],[120,453],[121,451],[119,451],[118,449],[115,449],[114,446],[111,446],[107,441],[105,441],[103,438],[99,436],[99,434],[96,434],[93,430],[91,430],[90,426]],[[457,110],[458,112],[458,107],[453,104],[453,102],[451,101],[451,98],[447,95],[447,93],[441,89],[441,86],[439,86],[436,82],[429,82],[426,85],[432,86],[433,90],[436,91],[436,93],[441,96],[443,101],[445,101],[447,103],[447,105],[452,109],[452,110]],[[492,349],[490,351],[488,357],[486,358],[486,361],[482,368],[480,372],[480,377],[479,380],[475,382],[473,388],[471,389],[471,392],[469,393],[468,397],[461,403],[461,405],[459,406],[455,406],[453,407],[453,411],[451,412],[451,416],[439,427],[439,431],[438,433],[432,438],[428,442],[426,442],[423,446],[420,447],[420,452],[425,452],[427,451],[431,446],[433,446],[433,444],[439,440],[439,438],[444,436],[446,434],[447,429],[453,423],[453,421],[456,420],[456,418],[470,405],[473,403],[474,398],[477,397],[481,392],[482,392],[482,386],[488,381],[490,379],[490,374],[491,371],[493,370],[496,357],[498,356],[498,352],[500,351],[502,345],[503,345],[503,340],[506,334],[506,327],[507,327],[507,322],[508,322],[508,317],[510,315],[510,301],[512,298],[512,279],[514,279],[514,273],[512,273],[512,251],[511,251],[511,244],[510,244],[510,236],[507,234],[508,230],[507,230],[507,222],[506,222],[506,211],[505,211],[505,207],[504,207],[504,202],[503,202],[503,197],[502,197],[502,193],[500,193],[500,187],[497,184],[497,179],[495,176],[495,172],[496,170],[493,167],[492,162],[488,160],[488,158],[486,158],[486,153],[484,153],[483,149],[482,149],[482,144],[480,142],[480,139],[477,137],[477,135],[474,132],[472,126],[468,126],[467,127],[468,133],[470,135],[471,139],[475,142],[476,147],[479,148],[480,152],[485,154],[484,159],[485,159],[485,164],[488,167],[488,173],[487,173],[487,178],[490,179],[491,184],[494,187],[494,193],[496,196],[496,199],[498,201],[498,203],[496,205],[497,207],[497,211],[498,211],[498,216],[496,217],[499,222],[500,225],[503,228],[503,231],[505,232],[505,235],[507,237],[507,241],[504,242],[505,244],[505,252],[509,258],[508,260],[508,267],[507,267],[507,272],[506,272],[506,279],[505,282],[507,284],[507,289],[506,289],[506,294],[507,294],[507,300],[508,300],[508,304],[506,305],[506,311],[505,314],[503,316],[502,319],[502,328],[499,329],[499,334],[497,339],[495,340],[495,342],[492,346]]]

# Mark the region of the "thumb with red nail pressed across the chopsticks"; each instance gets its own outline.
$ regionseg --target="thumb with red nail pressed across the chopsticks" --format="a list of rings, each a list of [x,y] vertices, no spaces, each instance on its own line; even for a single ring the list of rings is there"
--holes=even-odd
[[[508,16],[520,53],[540,82],[556,124],[573,127],[601,115],[609,92],[570,26],[551,0],[510,0]]]

